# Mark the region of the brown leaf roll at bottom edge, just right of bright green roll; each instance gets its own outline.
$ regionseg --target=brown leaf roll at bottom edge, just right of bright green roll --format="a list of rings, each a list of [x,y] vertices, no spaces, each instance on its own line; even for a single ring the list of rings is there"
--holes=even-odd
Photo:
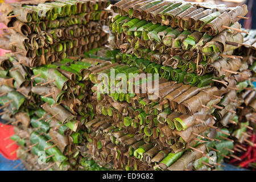
[[[197,150],[202,152],[205,151],[205,144],[200,144],[195,147]],[[203,156],[201,152],[190,150],[185,152],[180,159],[178,159],[174,164],[167,168],[168,171],[184,171],[184,169],[194,160],[200,159]]]

